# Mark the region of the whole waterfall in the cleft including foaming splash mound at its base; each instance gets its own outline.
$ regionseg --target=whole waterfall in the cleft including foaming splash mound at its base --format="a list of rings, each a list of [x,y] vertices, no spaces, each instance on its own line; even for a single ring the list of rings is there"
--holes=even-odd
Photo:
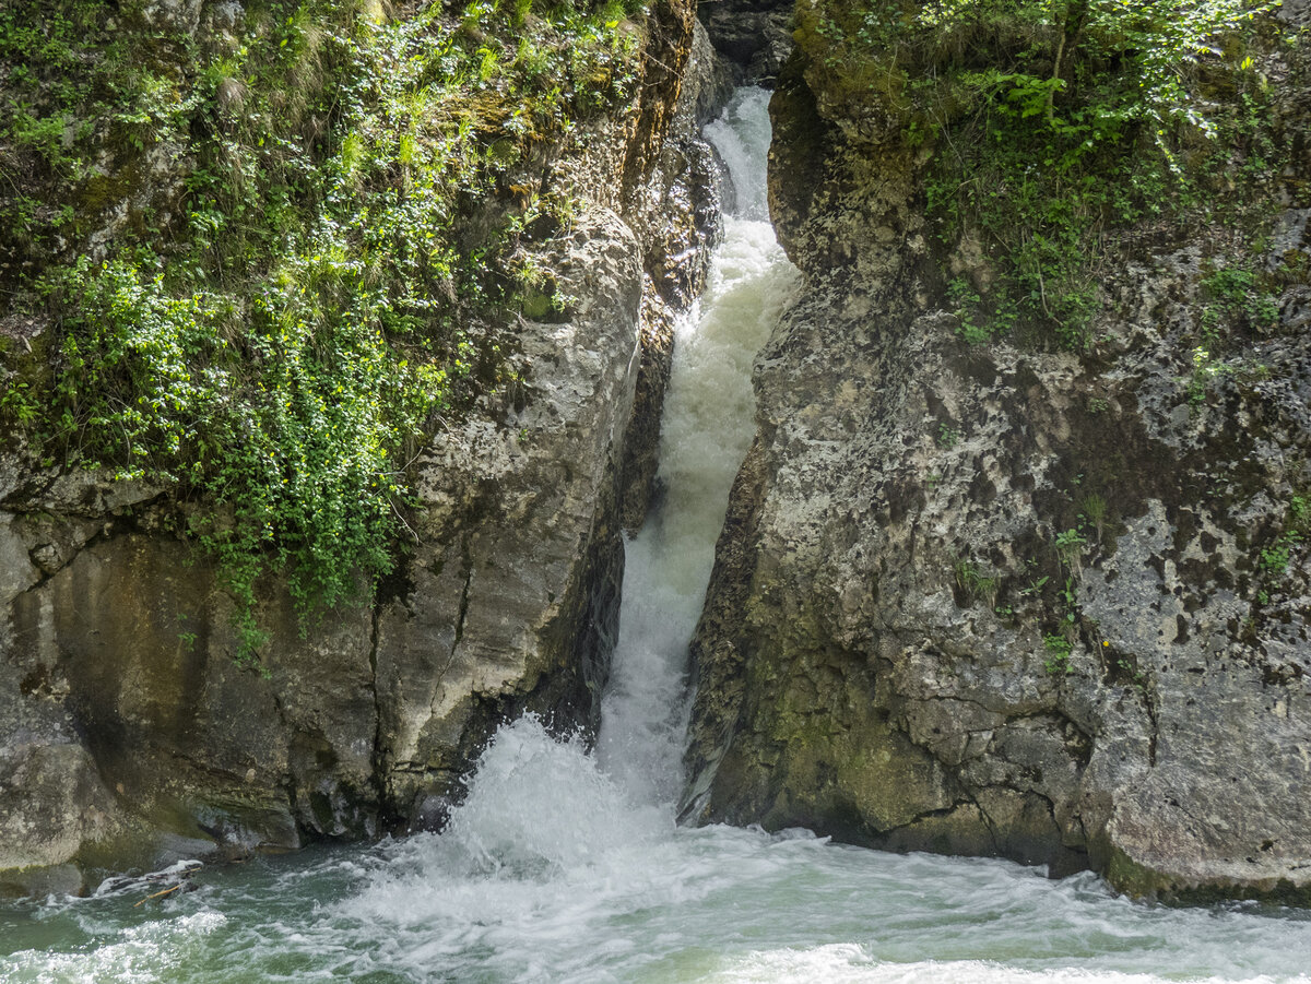
[[[625,544],[597,748],[556,740],[531,715],[502,727],[442,836],[423,841],[422,858],[443,871],[573,878],[666,844],[675,825],[687,647],[729,487],[755,431],[751,362],[797,280],[766,206],[768,93],[739,90],[707,136],[728,165],[738,214],[725,216],[707,290],[675,329],[659,445],[665,494]]]

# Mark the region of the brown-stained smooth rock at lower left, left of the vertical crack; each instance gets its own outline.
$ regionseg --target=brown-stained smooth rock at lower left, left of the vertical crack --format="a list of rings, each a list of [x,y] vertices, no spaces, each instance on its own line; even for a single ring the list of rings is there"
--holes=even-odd
[[[203,558],[109,525],[8,609],[4,748],[20,755],[4,785],[67,829],[39,863],[148,866],[376,829],[370,612],[302,638],[265,586],[265,677],[233,662],[231,603]],[[33,782],[25,760],[59,770]]]

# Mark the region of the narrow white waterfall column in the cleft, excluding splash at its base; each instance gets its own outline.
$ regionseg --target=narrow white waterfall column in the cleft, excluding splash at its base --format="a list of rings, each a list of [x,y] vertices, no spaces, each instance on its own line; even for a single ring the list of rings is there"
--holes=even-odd
[[[737,214],[725,216],[704,296],[676,328],[661,425],[665,495],[627,545],[598,761],[636,802],[667,803],[680,791],[687,646],[729,489],[755,432],[751,362],[797,279],[768,218],[768,98],[743,89],[705,128],[728,165]]]

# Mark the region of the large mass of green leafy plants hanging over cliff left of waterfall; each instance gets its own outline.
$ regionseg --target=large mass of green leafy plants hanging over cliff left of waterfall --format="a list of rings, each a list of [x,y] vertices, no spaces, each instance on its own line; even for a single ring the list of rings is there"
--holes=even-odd
[[[49,326],[0,349],[0,423],[202,503],[249,658],[261,573],[302,613],[385,573],[416,448],[514,383],[490,325],[564,304],[543,161],[632,98],[641,34],[582,0],[244,8],[0,9],[0,288]]]

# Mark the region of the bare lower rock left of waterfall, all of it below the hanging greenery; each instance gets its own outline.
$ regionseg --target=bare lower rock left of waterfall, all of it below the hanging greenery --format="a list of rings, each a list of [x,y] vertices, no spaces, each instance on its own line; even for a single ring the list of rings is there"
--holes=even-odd
[[[7,503],[0,870],[370,836],[431,819],[506,715],[586,721],[621,577],[642,250],[597,208],[552,269],[578,304],[520,326],[522,410],[423,452],[420,544],[388,600],[303,637],[286,588],[261,584],[267,676],[233,662],[206,558],[151,529],[163,504],[115,516],[132,497],[96,489],[83,519],[63,480]]]

